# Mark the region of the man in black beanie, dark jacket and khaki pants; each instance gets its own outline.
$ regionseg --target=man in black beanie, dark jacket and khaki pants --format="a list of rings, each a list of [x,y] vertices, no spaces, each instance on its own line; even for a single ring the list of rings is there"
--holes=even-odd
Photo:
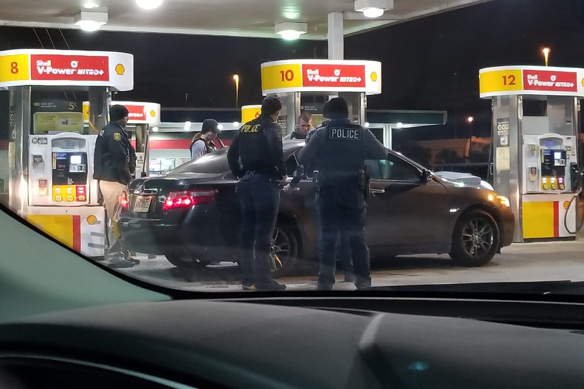
[[[113,218],[119,211],[120,197],[125,196],[130,182],[133,148],[124,129],[128,109],[123,105],[110,107],[110,123],[99,131],[93,154],[93,179],[98,180],[109,223],[106,223],[106,259],[111,268],[131,268],[140,263],[129,257],[117,241]],[[135,164],[134,164],[135,166]],[[108,226],[108,224],[111,224]]]

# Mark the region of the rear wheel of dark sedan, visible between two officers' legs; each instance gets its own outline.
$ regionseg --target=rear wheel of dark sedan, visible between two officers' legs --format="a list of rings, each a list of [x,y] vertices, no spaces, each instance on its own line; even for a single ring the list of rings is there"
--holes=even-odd
[[[296,273],[299,244],[296,231],[290,223],[277,221],[272,240],[272,277],[280,278]],[[274,257],[275,255],[275,257]]]

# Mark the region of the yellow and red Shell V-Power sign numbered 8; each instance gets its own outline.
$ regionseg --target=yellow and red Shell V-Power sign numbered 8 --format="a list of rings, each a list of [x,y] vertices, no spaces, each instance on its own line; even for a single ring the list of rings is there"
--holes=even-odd
[[[114,91],[131,91],[134,56],[112,51],[0,51],[0,87],[22,85],[109,86]]]

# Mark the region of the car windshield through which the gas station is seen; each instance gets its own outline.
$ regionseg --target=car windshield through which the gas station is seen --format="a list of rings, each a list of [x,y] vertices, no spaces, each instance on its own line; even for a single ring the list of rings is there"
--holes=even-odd
[[[579,1],[20,3],[0,205],[79,261],[242,296],[582,281]]]

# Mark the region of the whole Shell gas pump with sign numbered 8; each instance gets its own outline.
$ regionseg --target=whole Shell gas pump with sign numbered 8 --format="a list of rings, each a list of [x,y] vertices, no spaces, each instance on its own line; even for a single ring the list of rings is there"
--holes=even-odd
[[[105,249],[105,209],[93,179],[96,128],[107,124],[111,91],[133,88],[133,61],[107,51],[0,51],[0,64],[18,70],[0,74],[11,103],[9,207],[86,256]]]

